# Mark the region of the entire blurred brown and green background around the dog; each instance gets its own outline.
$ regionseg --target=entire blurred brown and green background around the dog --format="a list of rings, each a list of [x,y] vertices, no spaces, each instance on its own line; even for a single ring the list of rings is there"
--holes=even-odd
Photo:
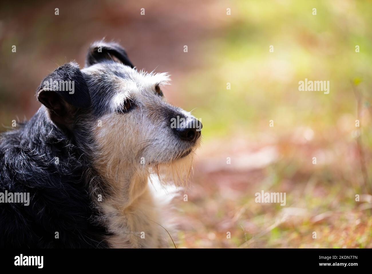
[[[171,74],[165,96],[203,123],[176,201],[179,247],[372,247],[371,1],[25,1],[0,15],[1,130],[103,37],[138,69]],[[305,78],[330,81],[329,94],[299,91]],[[286,206],[256,203],[261,190],[286,192]]]

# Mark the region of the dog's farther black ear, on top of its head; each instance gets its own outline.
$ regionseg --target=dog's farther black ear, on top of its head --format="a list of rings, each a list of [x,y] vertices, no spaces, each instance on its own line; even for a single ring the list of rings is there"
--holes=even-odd
[[[85,66],[92,66],[105,60],[123,63],[126,66],[134,67],[128,58],[124,48],[115,42],[97,41],[90,45]]]

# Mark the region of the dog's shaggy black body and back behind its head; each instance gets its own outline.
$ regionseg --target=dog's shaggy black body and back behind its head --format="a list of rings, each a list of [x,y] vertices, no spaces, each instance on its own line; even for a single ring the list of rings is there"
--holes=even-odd
[[[55,164],[55,157],[59,164]],[[0,247],[106,247],[90,197],[89,161],[40,108],[0,141],[0,191],[29,192],[30,204],[0,204]],[[55,239],[55,232],[59,239]]]

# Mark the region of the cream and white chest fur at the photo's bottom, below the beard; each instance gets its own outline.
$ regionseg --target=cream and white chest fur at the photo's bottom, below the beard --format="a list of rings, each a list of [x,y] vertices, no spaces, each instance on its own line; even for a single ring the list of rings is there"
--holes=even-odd
[[[171,192],[171,193],[170,193]],[[173,230],[169,203],[170,191],[143,180],[135,180],[115,189],[115,194],[100,204],[106,216],[106,226],[113,236],[108,238],[112,248],[167,248]],[[167,230],[166,230],[166,229]]]

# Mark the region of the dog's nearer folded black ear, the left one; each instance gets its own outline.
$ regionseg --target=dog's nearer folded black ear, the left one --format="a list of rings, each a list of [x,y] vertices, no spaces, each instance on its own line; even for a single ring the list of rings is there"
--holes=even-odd
[[[70,119],[78,108],[91,104],[87,83],[75,62],[64,64],[45,77],[36,96],[59,123]]]

